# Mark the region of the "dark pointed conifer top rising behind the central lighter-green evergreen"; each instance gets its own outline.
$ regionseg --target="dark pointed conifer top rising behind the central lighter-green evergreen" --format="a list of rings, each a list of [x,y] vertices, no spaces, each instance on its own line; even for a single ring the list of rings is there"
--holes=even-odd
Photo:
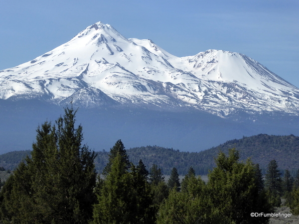
[[[120,139],[110,149],[109,161],[108,161],[107,165],[105,166],[105,168],[103,170],[103,175],[104,176],[107,176],[108,173],[111,171],[112,161],[116,157],[117,154],[121,155],[121,159],[126,164],[126,166],[125,166],[126,169],[129,169],[131,167],[131,163],[129,161],[129,156],[127,154],[127,151],[125,149],[125,146],[124,146],[122,140]]]

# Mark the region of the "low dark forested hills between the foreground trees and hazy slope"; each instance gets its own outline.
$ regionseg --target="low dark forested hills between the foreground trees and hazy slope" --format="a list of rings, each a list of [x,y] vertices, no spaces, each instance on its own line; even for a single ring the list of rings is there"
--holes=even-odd
[[[146,167],[156,164],[165,175],[170,175],[173,167],[178,174],[185,175],[190,166],[196,175],[206,175],[215,167],[215,158],[220,151],[228,154],[229,149],[236,148],[240,153],[240,160],[251,158],[258,163],[263,172],[271,160],[276,160],[280,170],[290,170],[293,176],[299,169],[299,137],[294,135],[276,136],[259,134],[241,139],[229,140],[217,147],[200,152],[180,152],[172,148],[159,146],[135,147],[127,150],[130,161],[138,165],[142,159]],[[19,162],[29,155],[30,151],[13,151],[0,155],[0,167],[13,170]],[[97,152],[95,167],[101,173],[109,161],[108,151]]]

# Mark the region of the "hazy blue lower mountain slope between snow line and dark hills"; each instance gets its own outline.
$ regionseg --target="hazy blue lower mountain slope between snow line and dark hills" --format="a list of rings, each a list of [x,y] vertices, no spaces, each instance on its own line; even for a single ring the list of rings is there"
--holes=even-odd
[[[63,108],[37,100],[0,101],[0,153],[31,149],[36,129],[46,120],[54,122]],[[233,120],[234,118],[234,120]],[[201,151],[227,140],[259,133],[299,135],[298,116],[239,114],[232,118],[189,110],[181,112],[106,108],[77,112],[84,143],[106,151],[122,139],[126,148],[158,145],[180,151]]]

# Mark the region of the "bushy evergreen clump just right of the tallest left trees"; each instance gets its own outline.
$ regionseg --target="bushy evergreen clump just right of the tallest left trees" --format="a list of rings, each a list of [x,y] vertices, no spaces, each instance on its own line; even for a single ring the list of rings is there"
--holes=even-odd
[[[112,158],[110,172],[96,189],[99,203],[93,223],[153,224],[155,209],[146,177],[133,164],[129,170],[127,156],[121,153]]]

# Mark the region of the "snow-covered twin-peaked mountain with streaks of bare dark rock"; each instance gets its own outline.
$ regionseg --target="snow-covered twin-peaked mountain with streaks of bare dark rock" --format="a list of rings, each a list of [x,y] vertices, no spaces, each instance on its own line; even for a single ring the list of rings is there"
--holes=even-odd
[[[84,107],[299,114],[299,89],[240,53],[176,57],[95,23],[32,61],[0,71],[0,99]]]

